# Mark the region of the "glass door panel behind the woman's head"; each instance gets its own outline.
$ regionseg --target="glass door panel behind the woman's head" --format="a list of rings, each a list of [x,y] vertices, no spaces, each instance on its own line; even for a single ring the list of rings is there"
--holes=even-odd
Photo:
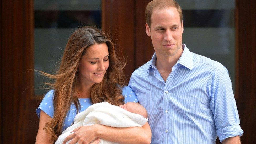
[[[71,33],[101,27],[101,0],[34,0],[34,69],[54,74]],[[44,95],[46,78],[34,72],[34,95]]]

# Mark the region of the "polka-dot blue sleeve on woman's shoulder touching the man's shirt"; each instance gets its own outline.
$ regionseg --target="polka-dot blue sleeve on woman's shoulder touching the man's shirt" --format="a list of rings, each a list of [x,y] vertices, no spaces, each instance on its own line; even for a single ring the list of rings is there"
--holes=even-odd
[[[135,92],[129,86],[124,86],[122,90],[123,90],[122,95],[124,96],[125,103],[127,102],[138,103],[138,99]]]

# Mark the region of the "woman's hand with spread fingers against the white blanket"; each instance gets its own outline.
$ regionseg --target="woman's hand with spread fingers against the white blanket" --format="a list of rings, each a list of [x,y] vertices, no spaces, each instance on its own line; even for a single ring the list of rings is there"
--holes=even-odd
[[[96,137],[96,127],[97,125],[92,126],[80,126],[74,129],[73,134],[67,136],[63,141],[63,144],[71,140],[69,144],[88,144],[93,143],[97,144],[100,142],[100,139]]]

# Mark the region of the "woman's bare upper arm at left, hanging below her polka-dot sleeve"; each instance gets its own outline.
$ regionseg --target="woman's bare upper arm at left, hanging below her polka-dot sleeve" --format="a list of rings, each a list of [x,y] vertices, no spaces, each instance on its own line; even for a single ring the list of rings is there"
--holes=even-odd
[[[39,143],[53,143],[54,141],[49,142],[51,136],[43,130],[45,124],[49,122],[52,118],[47,115],[44,111],[41,110],[40,112],[40,121],[39,121],[39,128],[36,135],[36,144]]]

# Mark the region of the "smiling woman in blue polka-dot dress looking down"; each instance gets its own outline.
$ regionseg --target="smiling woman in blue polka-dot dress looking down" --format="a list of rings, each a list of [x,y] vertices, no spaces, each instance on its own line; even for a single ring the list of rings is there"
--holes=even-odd
[[[123,87],[123,65],[115,54],[113,43],[96,28],[78,28],[69,38],[55,79],[36,110],[40,118],[36,143],[53,143],[74,117],[88,106],[109,102],[123,105],[138,102],[131,88]],[[48,83],[49,84],[49,83]],[[124,96],[125,97],[124,97]],[[151,130],[142,127],[114,128],[103,125],[82,126],[65,141],[90,143],[102,138],[117,143],[150,143]],[[140,134],[140,135],[137,135]],[[98,143],[99,139],[94,141]]]

